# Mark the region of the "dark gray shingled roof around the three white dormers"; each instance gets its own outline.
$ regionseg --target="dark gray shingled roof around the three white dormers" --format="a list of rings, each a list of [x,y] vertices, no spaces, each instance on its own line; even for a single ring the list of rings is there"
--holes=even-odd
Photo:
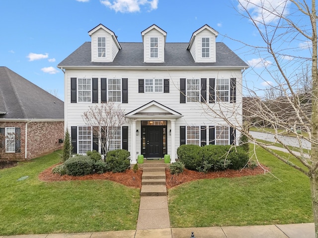
[[[164,63],[144,63],[143,43],[119,43],[122,47],[113,62],[91,62],[91,43],[85,42],[75,52],[59,63],[67,66],[161,66],[161,67],[248,67],[224,43],[216,43],[217,60],[215,63],[196,63],[187,50],[188,43],[166,43]]]

